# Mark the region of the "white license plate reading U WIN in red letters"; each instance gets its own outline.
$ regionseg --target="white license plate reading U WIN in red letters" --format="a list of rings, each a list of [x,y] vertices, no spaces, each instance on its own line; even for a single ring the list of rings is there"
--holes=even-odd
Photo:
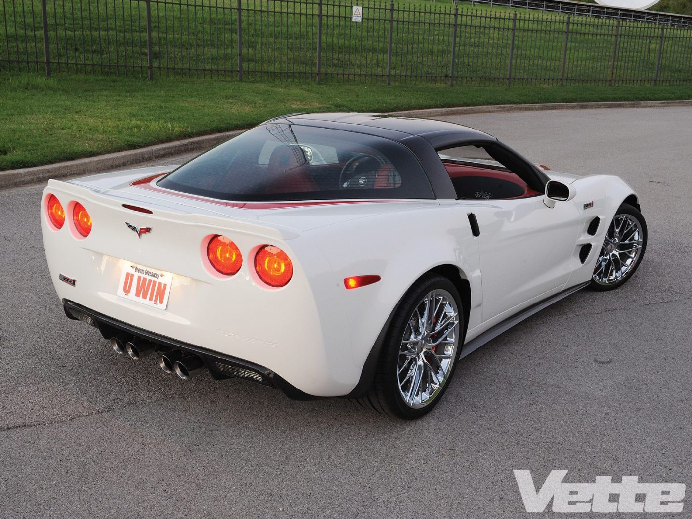
[[[168,304],[173,275],[130,264],[122,269],[118,295],[130,301],[164,310]]]

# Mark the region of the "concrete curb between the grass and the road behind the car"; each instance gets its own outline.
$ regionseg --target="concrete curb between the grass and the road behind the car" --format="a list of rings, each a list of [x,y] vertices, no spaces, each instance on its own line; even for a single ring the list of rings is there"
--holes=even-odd
[[[495,104],[478,107],[431,108],[422,110],[394,111],[388,115],[406,117],[444,117],[462,116],[472,113],[511,113],[523,111],[545,110],[583,110],[599,108],[660,108],[660,107],[689,107],[692,100],[684,101],[612,101],[612,102],[557,102],[545,104]],[[78,158],[75,161],[59,162],[36,167],[23,167],[19,170],[0,172],[0,189],[15,188],[19,185],[33,184],[48,179],[60,179],[66,176],[95,174],[107,170],[115,170],[144,161],[157,158],[162,160],[184,153],[201,153],[210,147],[221,144],[241,134],[244,130],[226,131],[222,134],[193,137],[175,140],[172,143],[157,144],[140,149],[130,149],[127,152],[109,153],[88,158]]]

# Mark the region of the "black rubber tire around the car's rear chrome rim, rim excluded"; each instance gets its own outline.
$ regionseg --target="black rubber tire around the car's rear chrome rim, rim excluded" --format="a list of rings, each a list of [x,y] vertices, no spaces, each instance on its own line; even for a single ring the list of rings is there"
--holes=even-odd
[[[428,403],[424,404],[424,407],[413,408],[406,403],[399,390],[398,371],[400,348],[403,335],[407,330],[410,319],[414,316],[417,307],[424,300],[426,294],[433,290],[448,292],[457,305],[458,324],[456,325],[455,333],[456,347],[452,356],[451,367],[448,369],[448,375],[441,383],[439,390],[435,392]],[[392,323],[385,336],[382,352],[376,365],[372,390],[366,397],[358,399],[358,403],[365,408],[370,408],[377,412],[385,412],[393,417],[407,420],[423,417],[430,412],[444,396],[457,367],[459,351],[463,343],[463,321],[464,311],[462,309],[462,301],[459,297],[459,291],[457,291],[454,284],[441,275],[429,274],[421,277],[420,280],[411,286],[406,295],[401,298],[399,307],[394,311]]]

